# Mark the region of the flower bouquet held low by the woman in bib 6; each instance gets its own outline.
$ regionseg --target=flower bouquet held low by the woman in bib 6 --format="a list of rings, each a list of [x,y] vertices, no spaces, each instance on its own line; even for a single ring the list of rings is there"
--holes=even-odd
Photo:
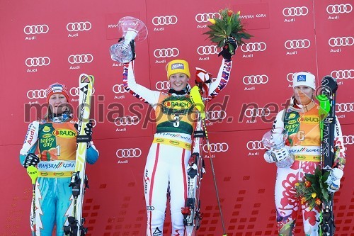
[[[314,174],[305,174],[305,180],[295,184],[296,196],[300,198],[302,205],[308,204],[310,209],[315,206],[321,208],[324,201],[331,200],[326,183],[329,174],[330,172],[326,172],[322,175],[321,169],[317,167]]]

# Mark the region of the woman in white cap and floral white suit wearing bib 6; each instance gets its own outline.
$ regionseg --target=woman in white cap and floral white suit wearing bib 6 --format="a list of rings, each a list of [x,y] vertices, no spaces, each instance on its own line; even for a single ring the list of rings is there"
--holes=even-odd
[[[319,235],[319,207],[310,209],[302,205],[295,196],[295,184],[304,180],[304,174],[314,174],[320,164],[320,128],[319,105],[314,102],[315,77],[309,72],[295,73],[293,76],[294,96],[290,106],[276,116],[274,128],[285,128],[288,138],[285,147],[267,150],[266,162],[277,162],[275,182],[275,207],[279,235],[294,235],[297,212],[302,210],[305,235]],[[335,158],[329,184],[329,191],[338,191],[343,168],[346,163],[345,147],[341,125],[336,119]],[[289,155],[295,162],[289,162]],[[287,164],[285,164],[287,162]]]

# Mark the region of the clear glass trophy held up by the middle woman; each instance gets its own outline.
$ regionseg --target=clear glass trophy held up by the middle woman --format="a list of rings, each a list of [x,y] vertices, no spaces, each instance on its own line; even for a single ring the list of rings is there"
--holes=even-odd
[[[117,62],[130,62],[133,58],[132,40],[139,42],[147,38],[147,26],[137,18],[125,16],[118,21],[118,30],[122,34],[121,40],[110,46],[110,57]]]

